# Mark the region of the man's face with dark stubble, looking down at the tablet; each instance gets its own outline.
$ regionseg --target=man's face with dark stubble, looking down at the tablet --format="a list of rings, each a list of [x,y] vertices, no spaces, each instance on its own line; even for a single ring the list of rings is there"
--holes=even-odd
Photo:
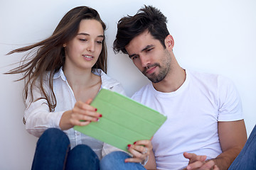
[[[132,39],[125,49],[135,66],[153,83],[162,81],[169,73],[170,52],[148,31]]]

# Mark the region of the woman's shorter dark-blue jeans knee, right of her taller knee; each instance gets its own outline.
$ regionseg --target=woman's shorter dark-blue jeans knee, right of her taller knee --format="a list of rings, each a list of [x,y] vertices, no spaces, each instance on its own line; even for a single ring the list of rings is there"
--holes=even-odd
[[[90,169],[98,170],[100,160],[97,154],[87,145],[78,145],[70,150],[66,162],[66,170]]]

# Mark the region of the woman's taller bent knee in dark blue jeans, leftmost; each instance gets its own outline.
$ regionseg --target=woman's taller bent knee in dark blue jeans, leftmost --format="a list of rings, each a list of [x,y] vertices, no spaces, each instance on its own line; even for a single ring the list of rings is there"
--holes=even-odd
[[[68,136],[62,130],[49,128],[39,137],[31,169],[63,169],[70,149]]]

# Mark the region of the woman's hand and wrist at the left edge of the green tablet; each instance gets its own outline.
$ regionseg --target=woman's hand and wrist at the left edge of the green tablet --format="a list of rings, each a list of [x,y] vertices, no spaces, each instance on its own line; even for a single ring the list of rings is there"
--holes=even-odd
[[[92,99],[85,103],[78,101],[72,110],[65,111],[60,118],[60,129],[68,130],[75,125],[84,126],[90,122],[97,122],[102,115],[96,112],[97,108],[90,106],[91,102]]]

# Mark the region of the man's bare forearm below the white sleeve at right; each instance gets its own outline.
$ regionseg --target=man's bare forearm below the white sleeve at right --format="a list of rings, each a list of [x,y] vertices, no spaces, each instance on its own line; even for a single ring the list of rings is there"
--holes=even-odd
[[[247,140],[244,120],[218,122],[218,135],[223,153],[213,161],[220,169],[228,169]]]

